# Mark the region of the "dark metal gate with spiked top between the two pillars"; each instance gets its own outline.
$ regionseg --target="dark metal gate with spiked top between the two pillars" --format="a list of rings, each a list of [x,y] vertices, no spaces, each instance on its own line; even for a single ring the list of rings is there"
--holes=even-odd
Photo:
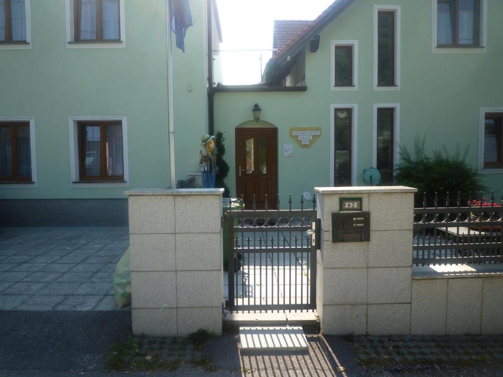
[[[312,208],[228,211],[230,311],[316,308],[316,197]],[[267,198],[266,206],[267,208]],[[225,240],[224,240],[225,242]]]

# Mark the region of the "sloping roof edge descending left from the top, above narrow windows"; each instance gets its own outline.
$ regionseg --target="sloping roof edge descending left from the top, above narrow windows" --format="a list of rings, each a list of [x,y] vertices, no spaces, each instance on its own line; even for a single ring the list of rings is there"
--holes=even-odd
[[[336,17],[353,4],[354,1],[355,0],[335,0],[315,20],[308,23],[300,32],[291,38],[281,49],[278,47],[278,51],[273,55],[272,59],[281,65],[286,64],[286,62],[290,60],[289,56],[293,56],[303,49],[313,37],[319,34],[321,30],[336,19]]]

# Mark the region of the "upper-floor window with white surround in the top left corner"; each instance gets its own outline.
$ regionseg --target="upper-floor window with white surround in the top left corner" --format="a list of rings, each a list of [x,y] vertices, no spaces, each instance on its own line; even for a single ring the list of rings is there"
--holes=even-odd
[[[0,49],[31,48],[30,0],[0,0]]]

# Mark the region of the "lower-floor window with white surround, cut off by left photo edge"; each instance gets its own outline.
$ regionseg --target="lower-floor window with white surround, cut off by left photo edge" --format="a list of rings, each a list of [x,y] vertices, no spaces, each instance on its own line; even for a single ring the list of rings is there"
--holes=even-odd
[[[0,183],[33,186],[35,165],[33,117],[0,117]]]

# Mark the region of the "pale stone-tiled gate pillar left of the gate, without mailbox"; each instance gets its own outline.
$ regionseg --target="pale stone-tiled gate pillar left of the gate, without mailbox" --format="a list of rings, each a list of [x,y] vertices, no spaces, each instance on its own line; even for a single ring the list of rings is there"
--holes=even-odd
[[[221,334],[223,189],[131,190],[133,334]]]

